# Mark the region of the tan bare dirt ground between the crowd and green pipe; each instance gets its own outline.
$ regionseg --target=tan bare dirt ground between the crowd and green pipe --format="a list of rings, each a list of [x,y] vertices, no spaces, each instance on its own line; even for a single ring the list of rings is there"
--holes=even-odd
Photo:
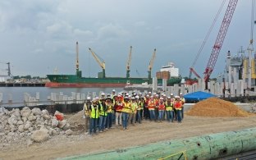
[[[98,135],[85,135],[83,119],[75,123],[75,135],[56,135],[41,144],[10,144],[0,152],[0,159],[55,159],[73,155],[97,153],[106,150],[125,149],[167,139],[183,139],[223,131],[252,128],[254,117],[191,117],[182,123],[143,121],[129,126],[128,130],[117,127]]]

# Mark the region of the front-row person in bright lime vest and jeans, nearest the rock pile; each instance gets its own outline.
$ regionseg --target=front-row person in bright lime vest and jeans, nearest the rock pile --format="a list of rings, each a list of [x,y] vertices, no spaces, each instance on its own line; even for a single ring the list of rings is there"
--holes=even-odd
[[[93,103],[90,109],[90,119],[89,119],[89,135],[97,134],[97,122],[99,117],[97,100],[93,99]]]

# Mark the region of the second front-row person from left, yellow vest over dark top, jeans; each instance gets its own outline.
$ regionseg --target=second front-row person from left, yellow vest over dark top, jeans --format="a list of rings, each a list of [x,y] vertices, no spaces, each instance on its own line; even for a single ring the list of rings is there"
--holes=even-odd
[[[99,123],[98,130],[99,132],[103,132],[105,130],[106,119],[107,119],[107,105],[105,102],[105,98],[101,98],[99,107]]]

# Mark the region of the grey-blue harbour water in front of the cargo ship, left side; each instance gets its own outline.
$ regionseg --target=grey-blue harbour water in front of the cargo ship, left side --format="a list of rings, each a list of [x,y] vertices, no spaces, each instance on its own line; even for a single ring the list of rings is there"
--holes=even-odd
[[[80,94],[88,94],[92,92],[103,91],[104,93],[112,93],[112,89],[116,89],[117,92],[121,92],[122,88],[48,88],[48,87],[0,87],[0,93],[2,93],[2,103],[8,103],[12,100],[12,103],[23,103],[24,93],[30,94],[31,97],[35,97],[39,92],[39,101],[48,101],[48,97],[51,93],[59,94],[62,92],[64,95],[71,96],[72,92]]]

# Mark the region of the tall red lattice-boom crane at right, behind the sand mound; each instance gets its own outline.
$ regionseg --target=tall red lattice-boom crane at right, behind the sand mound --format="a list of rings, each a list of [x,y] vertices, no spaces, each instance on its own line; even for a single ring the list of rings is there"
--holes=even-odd
[[[207,82],[213,72],[214,66],[217,62],[217,57],[222,49],[222,44],[224,42],[228,27],[231,23],[231,19],[234,14],[237,2],[238,2],[238,0],[230,0],[227,5],[226,13],[222,20],[222,25],[220,27],[220,30],[218,31],[217,39],[213,45],[213,50],[212,50],[211,56],[209,57],[207,66],[203,72],[203,74],[204,74],[203,80],[205,82],[205,89],[208,89]],[[214,21],[216,21],[216,20],[214,20]],[[195,62],[197,59],[198,59],[198,56],[196,56]],[[194,66],[194,64],[193,64],[193,66]],[[194,75],[196,75],[198,78],[200,78],[199,74],[197,74],[196,71],[194,71],[194,67],[190,67],[190,75],[191,75],[191,73],[194,73]]]

